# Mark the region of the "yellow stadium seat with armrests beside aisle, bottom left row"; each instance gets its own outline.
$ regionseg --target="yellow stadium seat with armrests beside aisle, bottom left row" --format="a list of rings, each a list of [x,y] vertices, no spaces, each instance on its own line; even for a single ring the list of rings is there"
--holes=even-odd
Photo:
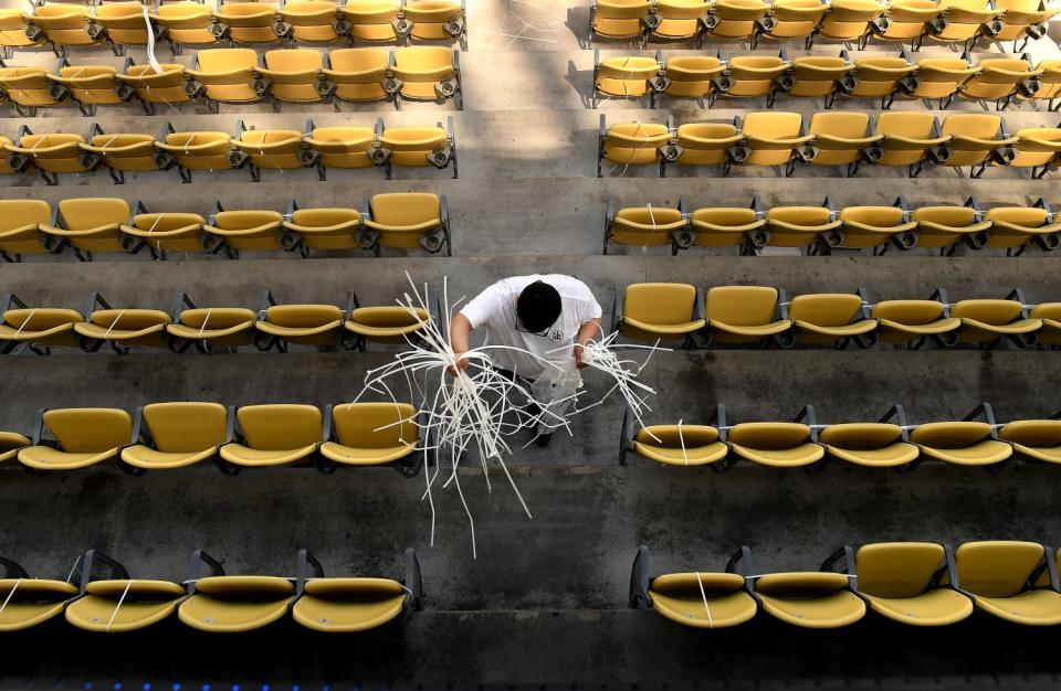
[[[306,550],[298,553],[298,599],[291,608],[300,625],[325,634],[378,628],[402,613],[419,609],[423,588],[416,552],[406,550],[405,583],[391,578],[325,577]]]

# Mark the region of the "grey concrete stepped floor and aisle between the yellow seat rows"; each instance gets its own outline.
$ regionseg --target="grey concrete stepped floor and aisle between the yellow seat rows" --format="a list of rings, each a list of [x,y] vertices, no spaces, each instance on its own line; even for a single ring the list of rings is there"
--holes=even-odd
[[[435,104],[413,104],[402,113],[387,104],[347,104],[342,113],[319,105],[285,106],[274,114],[267,105],[223,105],[219,115],[186,107],[145,117],[135,108],[102,108],[85,118],[63,109],[27,120],[35,131],[87,135],[94,121],[108,132],[156,134],[167,120],[178,130],[232,131],[240,118],[261,129],[301,130],[307,118],[318,126],[370,126],[378,117],[388,126],[414,126],[453,116],[460,180],[433,169],[401,170],[393,181],[377,170],[329,171],[326,182],[308,170],[265,171],[260,183],[251,183],[245,171],[196,173],[191,184],[179,184],[172,171],[129,176],[125,185],[112,184],[105,172],[63,176],[57,187],[33,176],[0,180],[2,199],[122,196],[143,200],[153,211],[203,214],[216,199],[228,209],[282,211],[292,198],[303,206],[359,206],[375,193],[433,191],[449,198],[453,258],[393,253],[375,259],[347,253],[301,261],[260,253],[239,262],[175,255],[151,263],[141,254],[101,255],[81,264],[65,253],[0,267],[0,293],[14,293],[31,306],[84,309],[88,291],[98,290],[116,307],[169,310],[181,290],[200,306],[256,308],[263,288],[282,302],[336,304],[353,288],[368,305],[391,304],[407,289],[406,272],[435,287],[448,276],[454,296],[472,295],[507,275],[561,272],[586,280],[606,316],[616,285],[643,280],[776,285],[790,293],[862,286],[871,300],[923,297],[938,286],[955,300],[1001,297],[1019,286],[1029,302],[1061,301],[1059,259],[1039,251],[1017,258],[960,251],[946,259],[916,251],[886,257],[706,252],[669,257],[660,251],[601,256],[609,195],[619,206],[675,205],[685,195],[691,208],[744,205],[756,193],[767,204],[818,204],[828,193],[849,205],[890,204],[899,194],[915,205],[959,204],[971,194],[987,206],[1030,204],[1041,195],[1058,205],[1061,195],[1057,173],[1030,181],[1005,169],[989,170],[981,180],[952,170],[928,170],[917,180],[895,170],[847,179],[832,169],[800,169],[790,179],[770,169],[736,171],[732,179],[708,169],[672,170],[666,179],[656,178],[654,169],[630,169],[598,180],[600,113],[609,121],[663,121],[669,110],[677,123],[728,120],[765,104],[731,100],[698,110],[676,103],[649,110],[609,102],[593,111],[587,102],[593,60],[585,45],[588,2],[470,0],[469,6],[470,50],[461,56],[464,111]],[[21,6],[0,0],[0,7]],[[1049,38],[1029,49],[1033,59],[1061,56],[1059,39],[1061,23],[1055,22]],[[687,51],[651,47],[665,54]],[[731,55],[750,52],[747,45],[717,47]],[[791,55],[803,54],[801,45],[787,47]],[[839,49],[816,45],[812,53]],[[976,55],[998,51],[983,43]],[[605,46],[605,54],[631,52],[627,45]],[[869,52],[897,49],[871,45]],[[143,51],[132,54],[143,62]],[[952,53],[926,46],[924,54]],[[165,47],[158,57],[169,60]],[[122,63],[106,50],[73,51],[71,62]],[[9,64],[51,66],[54,57],[23,53]],[[820,107],[795,99],[777,106],[805,116]],[[871,111],[875,104],[841,107]],[[924,104],[896,108],[923,109]],[[960,103],[950,111],[977,110],[978,104]],[[1053,127],[1059,119],[1028,104],[1005,117],[1011,130]],[[14,135],[22,121],[10,107],[0,108],[0,135]],[[0,406],[0,428],[29,432],[41,406],[132,410],[167,400],[325,405],[351,398],[365,371],[390,358],[381,348],[369,353],[293,350],[285,355],[246,350],[211,357],[147,351],[3,357],[0,393],[10,403]],[[723,402],[734,419],[786,419],[813,403],[820,422],[839,423],[875,419],[901,402],[917,423],[960,416],[980,401],[994,403],[999,419],[1009,421],[1061,407],[1058,357],[1054,351],[884,347],[671,352],[655,355],[642,379],[659,392],[651,422],[706,418]],[[587,375],[587,386],[590,395],[599,395],[603,382]],[[946,631],[900,628],[878,617],[842,631],[796,631],[766,616],[732,631],[696,631],[624,609],[639,544],[652,549],[655,573],[721,568],[742,543],[753,548],[763,571],[813,568],[843,543],[1031,539],[1055,544],[1061,534],[1057,469],[1011,464],[988,472],[926,464],[899,475],[832,464],[808,475],[740,465],[716,476],[633,458],[620,467],[621,415],[620,403],[610,401],[576,418],[575,438],[516,453],[508,465],[533,519],[522,513],[500,469],[492,467],[494,491],[487,493],[481,469],[468,463],[461,479],[476,521],[474,561],[466,517],[451,490],[435,495],[438,532],[430,545],[430,510],[420,501],[423,475],[405,479],[370,469],[325,476],[288,468],[227,477],[206,464],[140,478],[109,466],[36,478],[9,464],[0,468],[0,502],[9,507],[0,554],[22,561],[34,574],[65,577],[77,553],[96,548],[126,562],[135,575],[182,580],[188,550],[203,546],[224,557],[232,573],[290,575],[296,551],[306,546],[329,575],[397,576],[401,551],[413,546],[428,596],[426,610],[408,621],[350,637],[325,638],[277,625],[221,640],[168,621],[115,639],[56,621],[4,637],[0,687],[1057,687],[1061,666],[1052,631],[986,617]]]

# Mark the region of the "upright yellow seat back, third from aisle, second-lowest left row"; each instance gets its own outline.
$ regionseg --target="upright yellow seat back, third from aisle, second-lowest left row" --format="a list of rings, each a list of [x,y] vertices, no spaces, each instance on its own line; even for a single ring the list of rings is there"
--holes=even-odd
[[[228,411],[218,403],[174,402],[144,406],[155,448],[167,454],[190,454],[224,444]]]

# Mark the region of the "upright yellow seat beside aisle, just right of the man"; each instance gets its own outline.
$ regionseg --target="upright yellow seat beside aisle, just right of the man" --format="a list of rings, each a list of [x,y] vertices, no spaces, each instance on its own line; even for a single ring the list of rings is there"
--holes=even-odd
[[[681,341],[692,348],[704,326],[704,294],[695,286],[642,283],[616,288],[611,330],[629,339]]]

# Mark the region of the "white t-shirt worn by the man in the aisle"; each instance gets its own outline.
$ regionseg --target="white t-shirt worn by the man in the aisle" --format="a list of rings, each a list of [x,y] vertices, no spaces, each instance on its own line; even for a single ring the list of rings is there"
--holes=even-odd
[[[516,317],[516,299],[525,287],[536,280],[553,286],[560,294],[560,316],[545,336],[516,329],[519,323]],[[473,329],[485,327],[489,346],[522,348],[558,364],[574,358],[571,346],[578,336],[579,327],[600,317],[600,305],[586,284],[564,274],[503,278],[461,309],[461,313],[472,322]],[[491,349],[487,352],[495,366],[511,370],[527,379],[537,379],[547,369],[539,360],[525,353],[505,349]]]

